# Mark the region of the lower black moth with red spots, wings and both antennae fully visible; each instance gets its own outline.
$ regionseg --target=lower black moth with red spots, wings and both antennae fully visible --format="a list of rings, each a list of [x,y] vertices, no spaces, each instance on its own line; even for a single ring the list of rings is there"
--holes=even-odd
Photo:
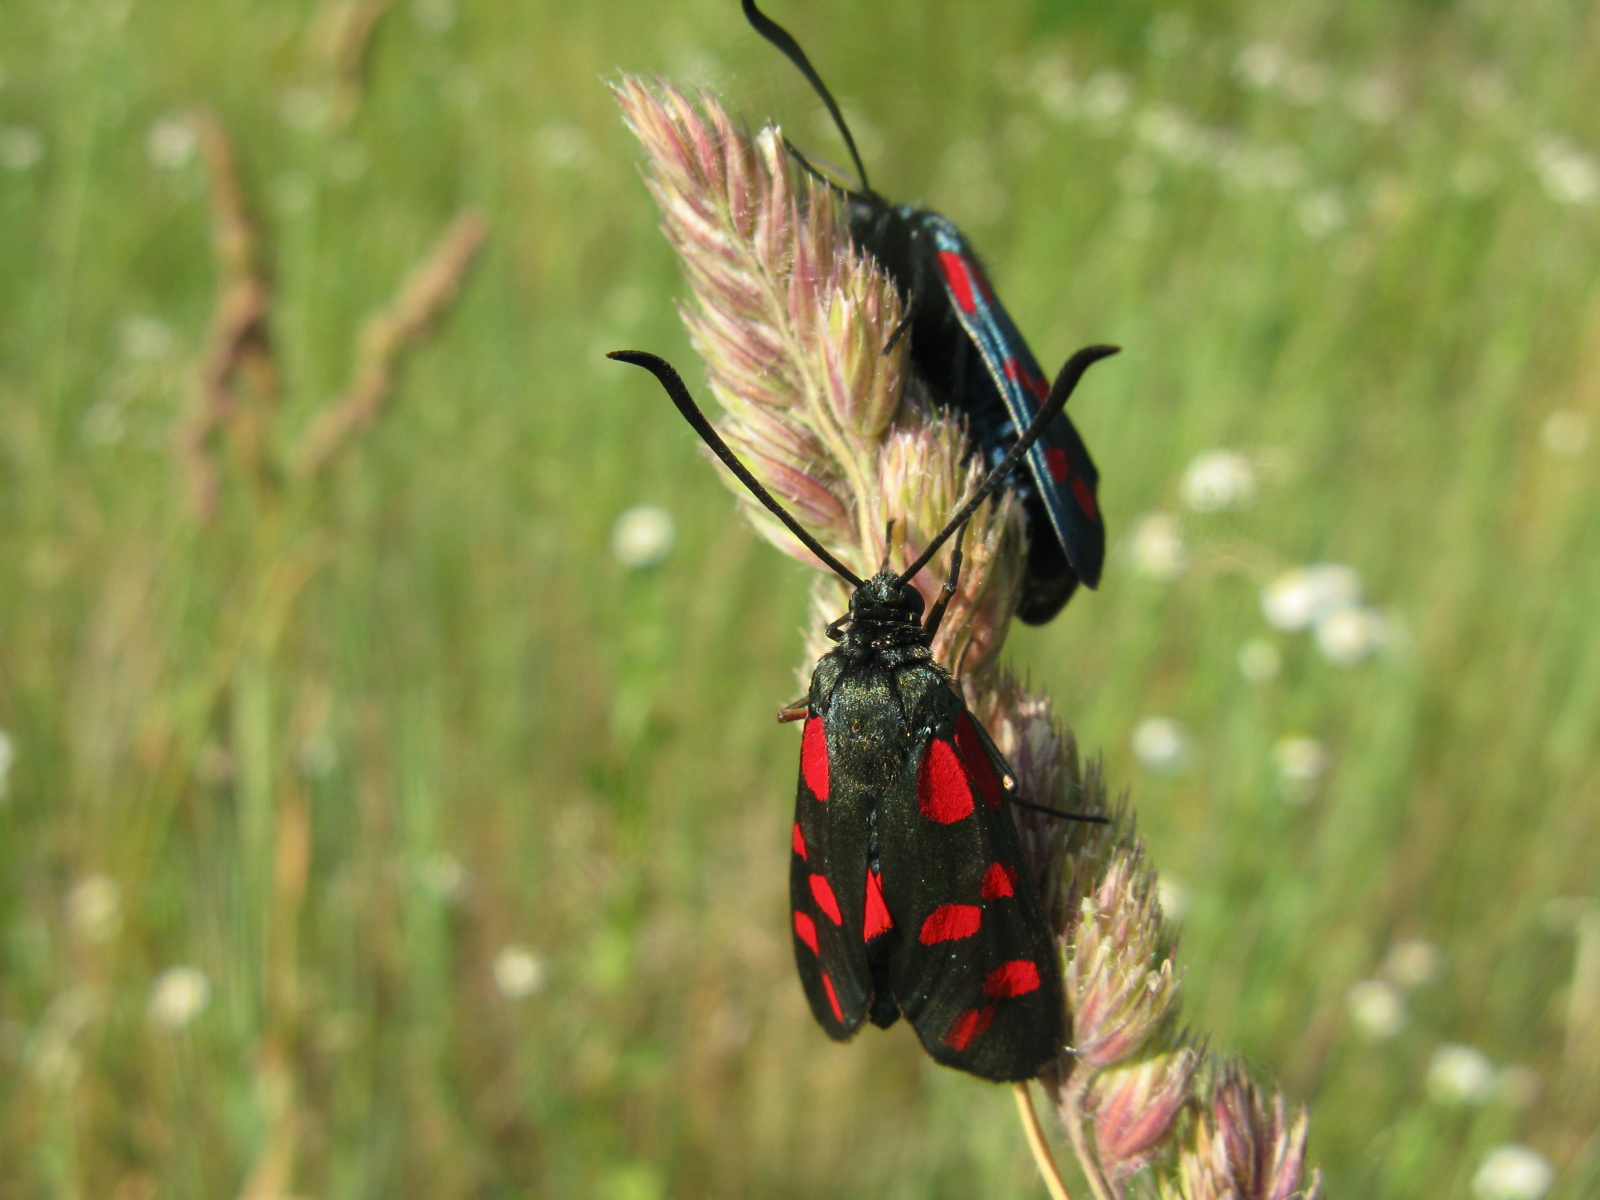
[[[1016,776],[933,659],[976,507],[1051,427],[1091,363],[1074,354],[1043,405],[982,485],[899,574],[858,578],[763,488],[653,354],[651,371],[694,432],[746,488],[854,592],[827,627],[838,643],[811,674],[802,714],[789,899],[795,963],[811,1013],[843,1042],[862,1021],[904,1016],[939,1062],[987,1080],[1034,1078],[1061,1053],[1061,963],[1040,915],[1008,805],[1078,821],[1016,794]],[[910,584],[955,536],[950,574],[923,619]]]

